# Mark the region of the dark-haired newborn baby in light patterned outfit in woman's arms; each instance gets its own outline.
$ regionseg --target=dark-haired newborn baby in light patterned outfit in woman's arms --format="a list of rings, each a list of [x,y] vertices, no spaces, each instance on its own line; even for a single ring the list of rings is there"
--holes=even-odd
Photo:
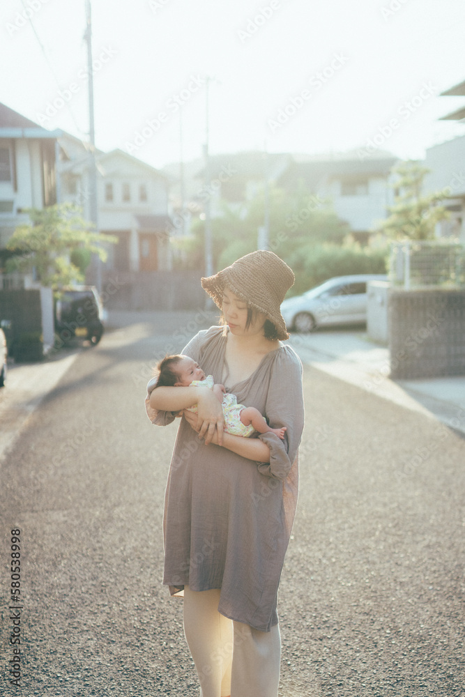
[[[158,381],[156,387],[188,387],[189,385],[206,387],[222,403],[224,416],[224,431],[233,436],[248,438],[258,431],[260,434],[273,433],[284,438],[282,429],[271,429],[264,417],[254,406],[237,404],[235,395],[224,390],[224,385],[213,382],[213,375],[206,376],[198,363],[188,355],[169,355],[157,366]],[[197,413],[197,406],[191,406],[188,411]]]

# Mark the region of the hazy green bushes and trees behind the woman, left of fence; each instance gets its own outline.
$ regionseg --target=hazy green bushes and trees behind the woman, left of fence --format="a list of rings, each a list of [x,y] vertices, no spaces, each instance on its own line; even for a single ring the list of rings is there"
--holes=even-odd
[[[332,276],[353,273],[386,273],[386,241],[360,243],[349,225],[340,220],[330,201],[297,191],[293,197],[281,189],[270,190],[268,249],[296,274],[289,297],[303,293]],[[245,210],[223,202],[223,217],[213,218],[213,268],[224,268],[243,254],[257,249],[257,233],[264,224],[264,192]],[[204,268],[204,221],[192,226],[192,237],[178,242],[177,268]]]

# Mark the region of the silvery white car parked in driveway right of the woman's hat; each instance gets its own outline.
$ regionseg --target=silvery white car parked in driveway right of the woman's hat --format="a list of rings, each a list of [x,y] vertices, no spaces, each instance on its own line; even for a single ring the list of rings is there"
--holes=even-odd
[[[367,282],[386,281],[383,274],[359,274],[330,278],[301,296],[287,298],[281,314],[288,329],[312,332],[334,324],[360,324],[367,321]]]

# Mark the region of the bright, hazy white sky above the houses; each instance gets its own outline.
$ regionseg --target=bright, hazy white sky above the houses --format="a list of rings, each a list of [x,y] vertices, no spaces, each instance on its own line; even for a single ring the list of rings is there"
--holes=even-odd
[[[91,0],[96,146],[403,159],[465,134],[463,0]],[[0,102],[89,139],[85,0],[2,0]]]

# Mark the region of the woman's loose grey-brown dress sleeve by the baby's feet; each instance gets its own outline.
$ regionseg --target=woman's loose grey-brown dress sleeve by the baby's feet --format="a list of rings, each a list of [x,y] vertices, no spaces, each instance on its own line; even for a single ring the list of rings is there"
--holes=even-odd
[[[271,369],[266,397],[266,418],[271,428],[287,427],[284,440],[275,434],[261,434],[270,448],[270,461],[258,462],[262,475],[284,480],[291,471],[302,438],[304,424],[302,363],[290,346],[285,346]]]

